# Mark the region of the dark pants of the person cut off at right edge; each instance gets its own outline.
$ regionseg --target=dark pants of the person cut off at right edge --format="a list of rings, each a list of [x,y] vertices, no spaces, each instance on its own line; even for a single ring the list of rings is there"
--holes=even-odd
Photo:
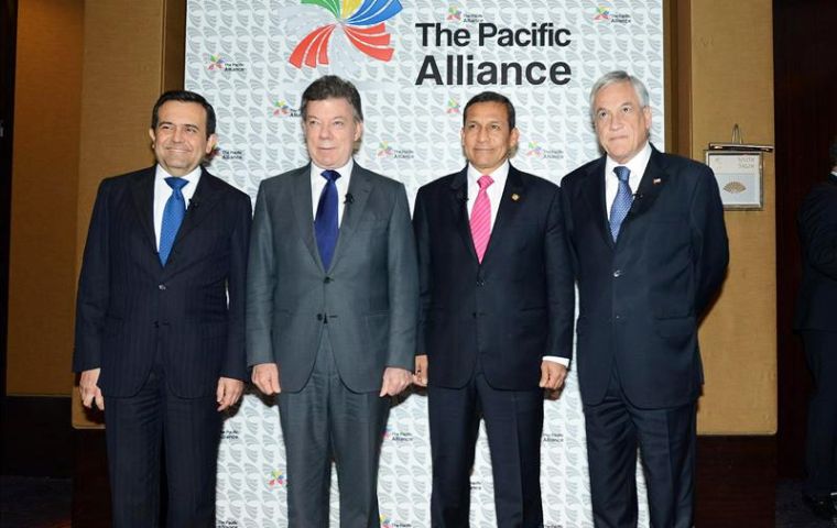
[[[822,498],[837,493],[837,332],[802,332],[814,378],[805,438],[805,494]]]

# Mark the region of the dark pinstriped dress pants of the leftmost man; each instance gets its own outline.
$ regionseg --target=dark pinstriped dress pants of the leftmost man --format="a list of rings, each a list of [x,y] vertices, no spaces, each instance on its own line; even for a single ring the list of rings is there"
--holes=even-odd
[[[215,527],[221,418],[215,394],[174,395],[155,367],[131,397],[105,398],[115,528],[160,526],[161,447],[169,490],[167,528]]]

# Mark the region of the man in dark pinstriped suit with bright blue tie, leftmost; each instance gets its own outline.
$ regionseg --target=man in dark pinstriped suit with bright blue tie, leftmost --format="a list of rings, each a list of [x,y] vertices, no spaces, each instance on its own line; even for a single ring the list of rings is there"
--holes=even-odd
[[[250,199],[200,163],[216,144],[202,96],[152,112],[157,164],[105,179],[87,234],[73,369],[105,409],[113,526],[215,526],[220,410],[241,395]],[[107,400],[107,406],[105,402]]]

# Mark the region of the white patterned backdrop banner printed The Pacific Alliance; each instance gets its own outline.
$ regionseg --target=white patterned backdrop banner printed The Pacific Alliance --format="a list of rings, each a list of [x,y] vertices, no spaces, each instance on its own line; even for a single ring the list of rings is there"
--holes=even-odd
[[[189,0],[186,88],[218,114],[211,172],[256,197],[259,183],[307,163],[300,98],[325,74],[360,91],[356,160],[418,187],[465,165],[461,109],[483,90],[517,108],[512,163],[559,183],[598,157],[588,92],[611,69],[645,81],[652,140],[663,141],[661,0]],[[485,431],[471,476],[471,526],[496,526]],[[335,477],[336,479],[336,477]],[[641,475],[640,496],[644,496]],[[574,372],[545,409],[544,526],[593,526],[584,415]],[[331,525],[338,522],[336,482]],[[351,485],[351,483],[346,483]],[[218,527],[287,526],[279,411],[247,395],[228,417],[218,464]],[[381,526],[430,527],[431,457],[423,394],[394,405],[379,477]],[[640,505],[640,525],[648,513]]]

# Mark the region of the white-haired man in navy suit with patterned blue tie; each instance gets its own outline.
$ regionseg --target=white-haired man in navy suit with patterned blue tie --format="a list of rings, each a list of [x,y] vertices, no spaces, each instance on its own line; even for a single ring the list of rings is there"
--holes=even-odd
[[[642,81],[602,76],[590,114],[606,155],[562,182],[578,282],[578,376],[594,522],[637,526],[637,448],[651,526],[693,520],[702,315],[729,258],[709,167],[649,143]]]

